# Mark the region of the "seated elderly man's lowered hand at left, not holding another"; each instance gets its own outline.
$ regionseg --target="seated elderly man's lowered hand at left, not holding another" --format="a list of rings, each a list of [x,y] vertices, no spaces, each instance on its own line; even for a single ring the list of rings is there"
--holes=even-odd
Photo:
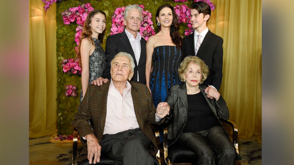
[[[89,134],[85,136],[87,140],[87,148],[88,148],[88,160],[89,164],[92,163],[92,159],[94,156],[94,164],[100,161],[101,156],[101,146],[98,143],[98,139],[94,134]]]

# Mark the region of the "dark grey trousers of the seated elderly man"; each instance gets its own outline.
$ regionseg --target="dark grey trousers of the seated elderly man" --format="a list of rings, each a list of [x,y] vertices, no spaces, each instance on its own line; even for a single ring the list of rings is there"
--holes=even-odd
[[[154,158],[148,153],[151,140],[140,128],[113,135],[105,134],[100,143],[101,155],[119,165],[154,165]]]

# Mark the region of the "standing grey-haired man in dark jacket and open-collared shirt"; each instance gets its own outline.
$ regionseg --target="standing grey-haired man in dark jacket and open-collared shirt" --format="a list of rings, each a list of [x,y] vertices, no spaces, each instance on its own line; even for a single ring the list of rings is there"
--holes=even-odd
[[[146,84],[146,41],[138,32],[142,20],[142,10],[138,5],[128,5],[124,9],[125,30],[122,33],[109,36],[106,40],[106,67],[102,75],[103,78],[110,80],[111,60],[119,52],[126,52],[132,55],[135,62],[134,76],[131,80]],[[102,84],[102,77],[94,84]]]

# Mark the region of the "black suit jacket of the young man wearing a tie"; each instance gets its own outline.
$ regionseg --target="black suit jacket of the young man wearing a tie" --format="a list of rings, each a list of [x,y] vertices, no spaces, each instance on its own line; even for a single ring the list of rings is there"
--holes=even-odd
[[[183,39],[182,51],[184,58],[195,56],[194,33]],[[213,85],[219,90],[223,78],[223,38],[208,30],[196,56],[202,59],[209,68],[209,75],[202,85]]]

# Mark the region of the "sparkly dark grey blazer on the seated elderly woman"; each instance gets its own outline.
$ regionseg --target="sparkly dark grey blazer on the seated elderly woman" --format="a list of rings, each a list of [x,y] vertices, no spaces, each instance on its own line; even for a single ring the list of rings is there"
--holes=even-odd
[[[200,92],[203,94],[204,98],[206,99],[213,114],[215,115],[215,118],[218,119],[218,117],[220,117],[224,120],[229,119],[229,109],[223,97],[220,96],[218,101],[216,101],[215,99],[211,100],[210,98],[206,97],[204,93],[205,88],[206,87],[204,85],[199,85]],[[170,115],[166,116],[164,119],[164,122],[168,123],[167,144],[168,146],[170,146],[173,143],[175,143],[175,141],[178,139],[187,121],[188,99],[187,99],[186,83],[173,85],[170,88],[170,92],[167,95],[167,98],[165,101],[170,106]]]

